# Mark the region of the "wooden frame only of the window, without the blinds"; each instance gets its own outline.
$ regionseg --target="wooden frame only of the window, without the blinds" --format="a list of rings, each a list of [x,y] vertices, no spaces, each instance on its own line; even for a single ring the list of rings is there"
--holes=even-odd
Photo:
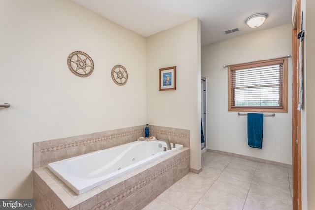
[[[268,106],[232,106],[233,87],[232,87],[232,71],[260,66],[267,66],[279,64],[283,62],[283,106],[282,107],[268,107]],[[242,63],[228,66],[228,111],[241,111],[241,112],[288,112],[287,105],[287,71],[288,62],[287,57],[261,60],[249,63]],[[235,91],[235,90],[234,90]]]

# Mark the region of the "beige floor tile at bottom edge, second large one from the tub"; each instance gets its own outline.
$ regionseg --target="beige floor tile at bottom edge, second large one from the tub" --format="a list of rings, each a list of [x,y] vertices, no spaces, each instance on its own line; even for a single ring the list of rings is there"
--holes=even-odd
[[[244,202],[244,198],[210,187],[198,203],[214,210],[242,210]]]

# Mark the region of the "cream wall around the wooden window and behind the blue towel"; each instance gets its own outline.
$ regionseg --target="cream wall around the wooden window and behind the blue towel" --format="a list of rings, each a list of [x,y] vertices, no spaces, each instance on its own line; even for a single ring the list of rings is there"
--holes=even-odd
[[[228,111],[228,69],[223,65],[291,54],[291,24],[229,39],[201,49],[201,75],[207,78],[207,148],[292,164],[292,67],[288,68],[288,113],[264,118],[262,149],[247,144],[247,118]]]

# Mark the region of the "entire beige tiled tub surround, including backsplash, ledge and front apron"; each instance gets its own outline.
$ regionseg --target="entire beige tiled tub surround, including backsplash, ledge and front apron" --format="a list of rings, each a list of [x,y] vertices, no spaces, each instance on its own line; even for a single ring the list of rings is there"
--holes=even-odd
[[[152,126],[150,136],[184,148],[124,176],[76,195],[48,168],[58,160],[103,150],[144,136],[145,125],[33,143],[34,203],[37,210],[141,209],[190,170],[190,131]]]

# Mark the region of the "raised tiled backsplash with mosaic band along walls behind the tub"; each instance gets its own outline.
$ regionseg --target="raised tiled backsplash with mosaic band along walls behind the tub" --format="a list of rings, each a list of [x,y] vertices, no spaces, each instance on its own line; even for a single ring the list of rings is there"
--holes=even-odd
[[[144,136],[145,125],[33,143],[33,168],[66,158],[126,144]],[[149,125],[150,136],[190,147],[190,131]]]

